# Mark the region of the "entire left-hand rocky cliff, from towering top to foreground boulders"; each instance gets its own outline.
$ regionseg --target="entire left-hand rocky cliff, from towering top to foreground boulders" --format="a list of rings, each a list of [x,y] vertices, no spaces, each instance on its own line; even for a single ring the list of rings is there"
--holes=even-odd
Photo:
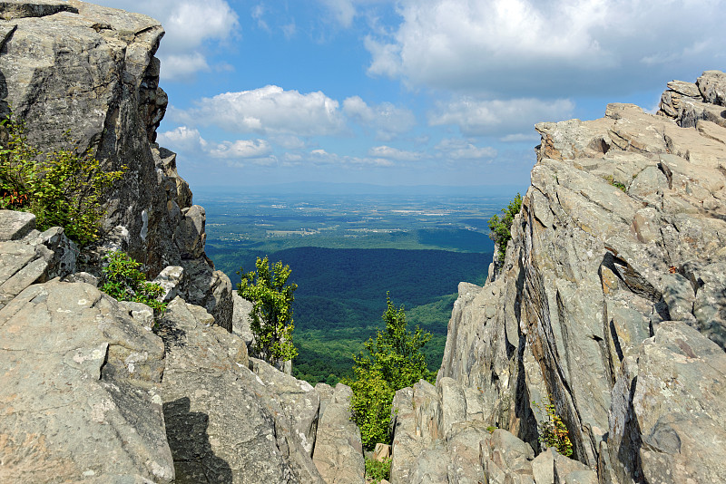
[[[127,167],[81,254],[62,228],[0,210],[0,482],[362,483],[349,389],[248,356],[249,305],[154,143],[161,25],[74,0],[0,2],[0,19],[0,115],[43,150],[70,130],[105,169]],[[156,324],[96,288],[113,249],[166,289]]]

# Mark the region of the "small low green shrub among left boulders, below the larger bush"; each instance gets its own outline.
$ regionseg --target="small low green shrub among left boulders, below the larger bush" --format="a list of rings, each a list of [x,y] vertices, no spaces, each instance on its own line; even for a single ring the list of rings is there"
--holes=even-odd
[[[146,275],[139,270],[140,262],[120,250],[110,252],[104,258],[108,261],[103,267],[101,290],[104,293],[118,301],[148,305],[157,317],[166,311],[166,303],[157,300],[164,292],[162,286],[146,282]]]

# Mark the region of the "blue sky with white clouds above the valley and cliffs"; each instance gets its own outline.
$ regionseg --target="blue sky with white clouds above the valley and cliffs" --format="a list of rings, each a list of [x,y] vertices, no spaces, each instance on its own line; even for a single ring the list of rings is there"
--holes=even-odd
[[[726,70],[726,0],[98,0],[151,15],[195,187],[526,188],[535,123]]]

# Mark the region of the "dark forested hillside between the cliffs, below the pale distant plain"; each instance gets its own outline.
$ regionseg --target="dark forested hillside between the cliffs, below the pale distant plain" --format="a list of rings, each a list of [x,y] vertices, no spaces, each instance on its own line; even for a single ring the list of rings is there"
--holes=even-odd
[[[227,251],[225,251],[227,252]],[[254,267],[253,250],[221,254],[208,246],[218,268],[236,284],[236,271]],[[411,326],[434,335],[427,363],[435,370],[446,343],[446,324],[461,281],[483,284],[491,253],[446,250],[333,249],[297,247],[269,254],[292,269],[295,293],[296,376],[311,383],[337,382],[349,374],[352,355],[375,334],[386,309],[386,293],[405,305]]]

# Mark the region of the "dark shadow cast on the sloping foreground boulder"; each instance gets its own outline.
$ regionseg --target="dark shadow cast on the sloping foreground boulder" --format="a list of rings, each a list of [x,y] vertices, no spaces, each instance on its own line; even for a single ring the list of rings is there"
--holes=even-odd
[[[174,482],[231,484],[230,465],[211,450],[207,435],[209,415],[190,411],[190,400],[187,397],[164,403],[163,411],[166,438],[174,460]]]

